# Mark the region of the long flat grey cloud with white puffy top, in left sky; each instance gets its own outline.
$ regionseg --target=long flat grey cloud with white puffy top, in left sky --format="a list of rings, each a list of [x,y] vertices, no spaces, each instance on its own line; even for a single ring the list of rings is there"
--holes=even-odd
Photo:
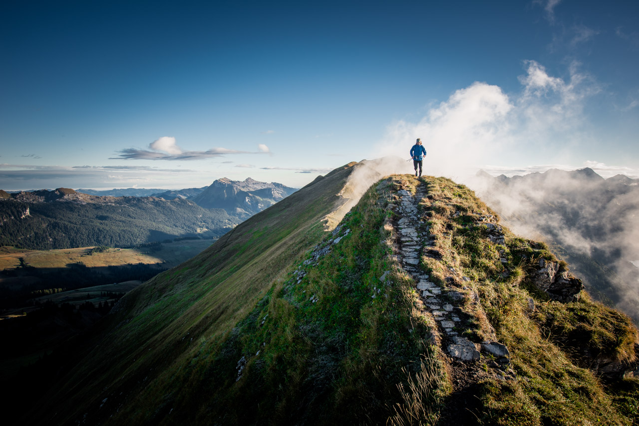
[[[264,154],[270,153],[268,147],[259,144],[258,151],[238,151],[237,149],[211,148],[206,151],[184,151],[175,143],[174,137],[163,136],[149,144],[147,149],[126,148],[116,157],[109,160],[201,160],[204,158],[220,157],[229,154]],[[266,151],[264,151],[266,149]]]

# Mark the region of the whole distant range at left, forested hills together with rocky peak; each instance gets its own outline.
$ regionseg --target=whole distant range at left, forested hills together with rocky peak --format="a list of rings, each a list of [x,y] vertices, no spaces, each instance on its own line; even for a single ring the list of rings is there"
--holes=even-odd
[[[183,190],[0,190],[0,245],[129,247],[178,236],[220,236],[295,190],[250,178]],[[153,196],[115,195],[148,192]]]

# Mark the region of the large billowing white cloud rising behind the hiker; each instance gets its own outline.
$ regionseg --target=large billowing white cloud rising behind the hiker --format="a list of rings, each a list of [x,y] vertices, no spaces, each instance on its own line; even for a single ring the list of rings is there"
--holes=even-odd
[[[427,151],[424,171],[462,180],[504,158],[516,164],[530,154],[543,158],[540,151],[557,158],[560,149],[587,137],[583,107],[600,88],[578,63],[569,66],[567,80],[536,61],[524,65],[519,93],[507,95],[498,86],[474,82],[431,107],[419,122],[389,125],[374,152],[408,160],[420,137]]]

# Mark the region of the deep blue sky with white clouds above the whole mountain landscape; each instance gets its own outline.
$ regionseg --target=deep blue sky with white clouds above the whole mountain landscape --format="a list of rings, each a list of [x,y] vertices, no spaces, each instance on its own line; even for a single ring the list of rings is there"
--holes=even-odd
[[[3,2],[0,188],[639,177],[639,2]]]

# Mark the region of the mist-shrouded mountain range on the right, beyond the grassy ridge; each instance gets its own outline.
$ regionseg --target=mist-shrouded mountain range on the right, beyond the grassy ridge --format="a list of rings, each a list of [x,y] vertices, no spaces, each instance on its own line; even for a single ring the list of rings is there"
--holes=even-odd
[[[477,193],[511,229],[560,246],[592,293],[639,321],[639,179],[604,179],[589,168],[477,176]]]

